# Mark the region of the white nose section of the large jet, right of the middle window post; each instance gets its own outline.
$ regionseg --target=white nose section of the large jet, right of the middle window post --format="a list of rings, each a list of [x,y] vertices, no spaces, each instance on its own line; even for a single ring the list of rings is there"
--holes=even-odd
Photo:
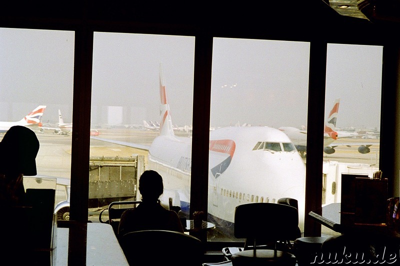
[[[234,208],[239,204],[289,197],[298,200],[302,217],[305,165],[284,133],[269,127],[226,127],[210,132],[210,142],[220,139],[234,141],[235,149],[229,165],[219,173],[208,172],[211,215],[233,222]],[[283,151],[283,145],[291,146],[290,151]],[[218,156],[220,152],[210,151],[209,168]]]

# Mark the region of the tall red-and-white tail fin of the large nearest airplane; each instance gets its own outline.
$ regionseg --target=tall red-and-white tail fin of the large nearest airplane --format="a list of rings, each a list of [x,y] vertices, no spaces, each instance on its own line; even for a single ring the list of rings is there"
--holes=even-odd
[[[171,115],[170,115],[170,111],[169,111],[168,98],[166,96],[164,71],[162,69],[161,63],[159,64],[159,97],[160,97],[159,135],[160,136],[174,136],[172,122],[171,122]]]

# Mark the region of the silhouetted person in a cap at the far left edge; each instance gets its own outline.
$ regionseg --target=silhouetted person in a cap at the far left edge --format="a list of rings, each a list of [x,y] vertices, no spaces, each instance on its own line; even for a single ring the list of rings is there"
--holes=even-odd
[[[35,133],[24,126],[11,127],[0,142],[0,230],[1,252],[11,258],[12,265],[22,264],[30,249],[32,232],[31,208],[26,200],[23,176],[36,175],[35,158],[39,141]],[[4,247],[5,245],[5,247]],[[20,254],[24,251],[24,254]],[[28,260],[28,259],[26,259]]]

